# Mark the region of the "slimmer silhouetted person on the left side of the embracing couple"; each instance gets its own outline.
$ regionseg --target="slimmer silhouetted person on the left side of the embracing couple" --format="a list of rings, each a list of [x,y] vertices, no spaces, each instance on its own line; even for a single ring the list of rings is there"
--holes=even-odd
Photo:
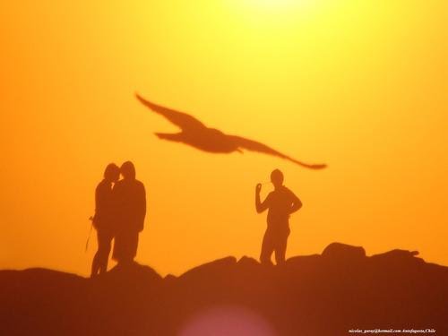
[[[92,222],[97,230],[98,251],[91,263],[90,277],[108,271],[108,258],[114,237],[114,193],[113,185],[120,177],[120,168],[115,163],[108,164],[104,178],[95,190],[95,215]]]

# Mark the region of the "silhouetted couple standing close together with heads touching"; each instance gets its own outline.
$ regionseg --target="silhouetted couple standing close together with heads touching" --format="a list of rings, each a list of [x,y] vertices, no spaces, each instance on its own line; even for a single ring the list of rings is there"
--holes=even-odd
[[[145,215],[146,193],[142,182],[135,178],[134,164],[126,161],[120,168],[114,163],[108,164],[95,190],[93,226],[97,230],[98,251],[91,264],[90,277],[108,271],[112,240],[112,258],[118,265],[134,263]]]

